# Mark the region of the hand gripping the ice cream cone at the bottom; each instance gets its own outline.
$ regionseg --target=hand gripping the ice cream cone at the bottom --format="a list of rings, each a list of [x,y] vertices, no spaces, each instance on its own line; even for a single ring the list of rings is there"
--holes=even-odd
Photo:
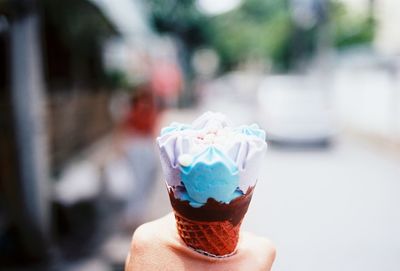
[[[135,231],[125,271],[269,271],[275,248],[265,238],[241,232],[236,254],[227,258],[204,256],[180,239],[172,213]]]

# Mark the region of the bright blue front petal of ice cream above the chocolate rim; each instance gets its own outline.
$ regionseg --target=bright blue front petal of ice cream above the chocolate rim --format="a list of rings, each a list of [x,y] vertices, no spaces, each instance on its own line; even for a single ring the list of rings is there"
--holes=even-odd
[[[194,156],[190,165],[181,166],[181,178],[189,197],[200,204],[209,198],[230,202],[238,196],[238,167],[215,146]]]

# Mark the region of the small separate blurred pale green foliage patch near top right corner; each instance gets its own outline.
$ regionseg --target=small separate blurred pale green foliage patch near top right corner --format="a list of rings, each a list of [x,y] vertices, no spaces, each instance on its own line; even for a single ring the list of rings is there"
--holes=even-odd
[[[331,22],[337,48],[370,43],[374,38],[376,22],[372,14],[350,13],[343,2],[331,2]]]

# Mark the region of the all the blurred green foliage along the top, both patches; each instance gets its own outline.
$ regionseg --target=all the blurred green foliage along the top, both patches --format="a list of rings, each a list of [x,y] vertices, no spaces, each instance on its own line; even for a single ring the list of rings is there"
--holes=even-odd
[[[332,46],[342,48],[372,41],[375,21],[371,15],[358,16],[346,10],[342,1],[327,1]],[[239,8],[214,17],[198,11],[195,0],[148,2],[156,30],[180,38],[189,50],[199,46],[215,49],[222,70],[248,59],[261,59],[275,69],[290,69],[296,58],[313,56],[318,32],[326,31],[318,21],[310,29],[296,26],[289,0],[245,0]]]

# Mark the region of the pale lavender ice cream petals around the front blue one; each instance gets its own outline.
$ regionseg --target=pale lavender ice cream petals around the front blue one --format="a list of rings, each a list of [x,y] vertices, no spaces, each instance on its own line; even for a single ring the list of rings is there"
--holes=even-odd
[[[225,115],[213,112],[204,113],[191,125],[172,123],[162,129],[157,142],[170,186],[181,185],[182,172],[207,149],[215,148],[221,163],[236,165],[243,193],[255,185],[267,149],[265,132],[258,125],[232,127]]]

